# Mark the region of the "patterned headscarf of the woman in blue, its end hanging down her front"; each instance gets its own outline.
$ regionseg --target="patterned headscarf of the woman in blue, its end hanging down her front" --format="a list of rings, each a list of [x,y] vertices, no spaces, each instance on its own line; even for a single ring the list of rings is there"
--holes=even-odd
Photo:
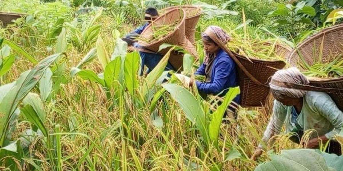
[[[202,34],[201,37],[211,37],[210,35],[215,35],[218,40],[220,40],[223,44],[226,44],[228,41],[230,41],[230,36],[226,34],[226,32],[218,27],[218,26],[209,26]],[[212,39],[213,40],[213,39]],[[215,40],[213,40],[214,42],[216,42]],[[216,44],[219,44],[216,42]],[[211,66],[212,63],[214,61],[216,54],[210,54],[205,52],[205,61],[204,63],[206,64],[206,68],[205,68],[205,74],[206,74],[206,81],[209,81],[210,76],[211,76]]]

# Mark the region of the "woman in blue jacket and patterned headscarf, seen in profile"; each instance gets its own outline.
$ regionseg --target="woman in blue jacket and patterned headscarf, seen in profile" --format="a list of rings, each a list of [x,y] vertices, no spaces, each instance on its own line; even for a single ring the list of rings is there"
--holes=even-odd
[[[221,46],[226,45],[230,37],[218,26],[209,26],[201,36],[206,56],[204,63],[200,65],[195,75],[205,76],[206,80],[205,82],[196,81],[197,88],[202,94],[224,96],[230,87],[238,86],[236,63],[221,48]],[[177,76],[186,77],[182,75]],[[188,80],[189,84],[193,82],[187,78],[185,80]],[[239,99],[240,96],[237,95],[228,108],[229,113],[234,114],[235,118],[235,109],[239,104]]]

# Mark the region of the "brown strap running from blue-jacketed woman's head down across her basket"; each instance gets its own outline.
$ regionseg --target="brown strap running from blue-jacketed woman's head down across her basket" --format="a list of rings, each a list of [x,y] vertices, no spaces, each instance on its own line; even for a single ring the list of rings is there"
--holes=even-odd
[[[244,74],[246,74],[253,82],[259,84],[260,86],[265,86],[265,87],[269,87],[268,84],[263,84],[261,83],[259,80],[257,80],[244,66],[242,63],[239,62],[239,60],[237,59],[236,55],[234,55],[226,46],[225,44],[218,39],[218,37],[212,32],[206,32],[206,34],[214,41],[216,42],[219,47],[221,47],[226,53],[228,53],[230,55],[230,57],[232,57],[232,59],[235,61],[235,63],[239,66],[240,69],[243,70]]]

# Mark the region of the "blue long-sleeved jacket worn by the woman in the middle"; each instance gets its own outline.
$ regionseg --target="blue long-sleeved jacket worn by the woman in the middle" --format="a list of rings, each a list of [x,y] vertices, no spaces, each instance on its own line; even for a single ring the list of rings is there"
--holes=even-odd
[[[201,66],[196,71],[195,75],[205,75],[206,64]],[[212,74],[210,82],[196,81],[198,90],[205,94],[218,94],[225,90],[221,95],[225,95],[230,87],[238,86],[236,63],[222,49],[220,49],[212,63]],[[234,99],[239,103],[239,95]]]

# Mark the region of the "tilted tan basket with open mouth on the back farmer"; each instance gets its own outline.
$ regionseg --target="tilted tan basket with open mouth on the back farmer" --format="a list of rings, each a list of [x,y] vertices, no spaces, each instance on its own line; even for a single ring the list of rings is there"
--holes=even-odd
[[[167,13],[161,15],[153,23],[151,23],[149,26],[147,26],[142,34],[141,38],[142,39],[149,39],[153,35],[153,29],[152,29],[152,24],[156,25],[167,25],[170,23],[173,23],[178,19],[179,17],[182,17],[181,22],[176,26],[176,29],[173,32],[170,32],[169,35],[163,37],[160,40],[155,40],[153,42],[145,42],[140,40],[139,44],[151,51],[157,52],[159,50],[159,46],[162,45],[163,43],[169,43],[169,44],[174,44],[174,45],[179,45],[180,47],[184,48],[187,50],[191,55],[193,56],[198,56],[196,48],[194,45],[187,39],[186,33],[185,33],[185,11],[182,9],[174,9],[170,10]],[[170,48],[165,48],[164,50],[161,51],[162,54],[167,53],[167,51]]]

